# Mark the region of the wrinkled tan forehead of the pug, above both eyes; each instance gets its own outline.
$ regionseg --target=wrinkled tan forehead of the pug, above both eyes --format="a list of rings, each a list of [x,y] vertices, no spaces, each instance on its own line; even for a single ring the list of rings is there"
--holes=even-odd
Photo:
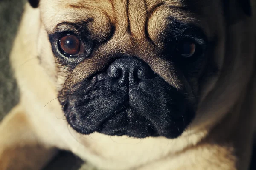
[[[93,19],[95,25],[111,22],[119,30],[131,27],[136,34],[147,25],[150,34],[163,30],[166,20],[172,17],[196,24],[206,34],[212,34],[221,17],[218,5],[209,0],[41,0],[40,10],[49,32],[62,22]],[[209,18],[211,22],[207,23]]]

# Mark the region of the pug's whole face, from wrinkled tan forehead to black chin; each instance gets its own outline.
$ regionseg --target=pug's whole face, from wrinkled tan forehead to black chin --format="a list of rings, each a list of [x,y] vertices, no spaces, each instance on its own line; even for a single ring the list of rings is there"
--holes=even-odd
[[[41,0],[39,8],[38,58],[81,134],[176,138],[218,80],[221,2]]]

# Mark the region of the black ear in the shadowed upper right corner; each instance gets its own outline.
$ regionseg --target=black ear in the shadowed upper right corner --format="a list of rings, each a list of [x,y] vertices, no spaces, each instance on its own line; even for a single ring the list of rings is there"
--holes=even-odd
[[[223,0],[227,23],[233,24],[244,17],[252,16],[250,0]]]

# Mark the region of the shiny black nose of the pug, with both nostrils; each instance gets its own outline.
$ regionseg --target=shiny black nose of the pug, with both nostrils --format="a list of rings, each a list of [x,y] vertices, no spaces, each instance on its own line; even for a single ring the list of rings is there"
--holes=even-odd
[[[107,74],[117,79],[119,83],[129,82],[129,84],[156,76],[148,64],[134,57],[116,59],[109,66]]]

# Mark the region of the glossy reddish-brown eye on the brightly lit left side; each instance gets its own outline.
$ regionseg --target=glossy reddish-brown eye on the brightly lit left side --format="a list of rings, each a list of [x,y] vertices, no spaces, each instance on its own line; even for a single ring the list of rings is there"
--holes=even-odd
[[[74,35],[66,35],[59,40],[59,45],[64,53],[67,56],[75,56],[83,52],[83,46],[81,45],[80,40]]]

